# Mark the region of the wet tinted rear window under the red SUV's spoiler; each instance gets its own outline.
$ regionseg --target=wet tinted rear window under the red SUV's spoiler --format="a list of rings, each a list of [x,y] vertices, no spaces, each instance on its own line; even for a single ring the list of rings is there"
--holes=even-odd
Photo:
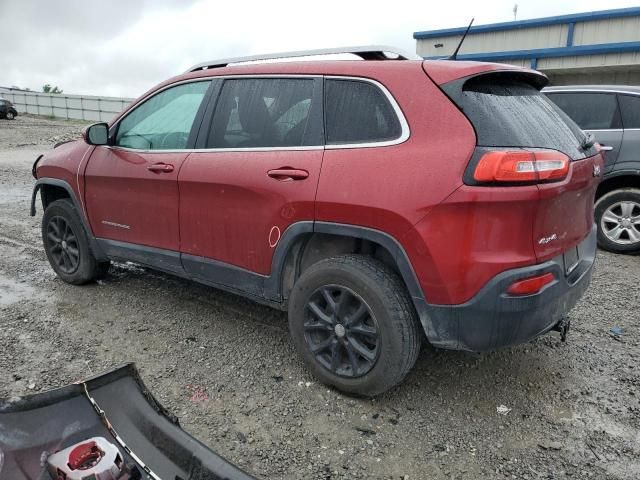
[[[583,151],[585,134],[522,75],[482,75],[453,89],[445,88],[473,124],[478,146],[548,148],[573,159],[595,154]]]

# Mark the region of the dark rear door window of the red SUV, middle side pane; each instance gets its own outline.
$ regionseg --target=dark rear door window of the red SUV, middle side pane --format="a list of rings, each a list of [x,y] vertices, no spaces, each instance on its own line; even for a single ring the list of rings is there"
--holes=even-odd
[[[226,80],[207,148],[317,145],[317,135],[312,132],[317,129],[311,115],[313,90],[313,79]]]

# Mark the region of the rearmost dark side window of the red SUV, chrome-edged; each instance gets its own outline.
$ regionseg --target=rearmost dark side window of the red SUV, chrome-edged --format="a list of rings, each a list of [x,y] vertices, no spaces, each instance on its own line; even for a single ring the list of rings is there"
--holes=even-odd
[[[402,127],[385,94],[369,82],[325,80],[328,145],[394,140]]]

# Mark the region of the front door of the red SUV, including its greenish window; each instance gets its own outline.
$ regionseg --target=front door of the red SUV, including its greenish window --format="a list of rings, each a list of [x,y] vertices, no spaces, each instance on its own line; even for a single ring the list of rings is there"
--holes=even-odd
[[[178,173],[210,84],[183,83],[145,99],[111,128],[110,145],[91,154],[85,170],[87,216],[107,251],[114,245],[179,251]]]

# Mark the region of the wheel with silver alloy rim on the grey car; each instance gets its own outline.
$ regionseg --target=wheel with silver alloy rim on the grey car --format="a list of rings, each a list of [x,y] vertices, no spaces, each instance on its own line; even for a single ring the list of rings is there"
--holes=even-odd
[[[640,189],[621,188],[600,197],[595,220],[600,248],[614,253],[640,252]]]

